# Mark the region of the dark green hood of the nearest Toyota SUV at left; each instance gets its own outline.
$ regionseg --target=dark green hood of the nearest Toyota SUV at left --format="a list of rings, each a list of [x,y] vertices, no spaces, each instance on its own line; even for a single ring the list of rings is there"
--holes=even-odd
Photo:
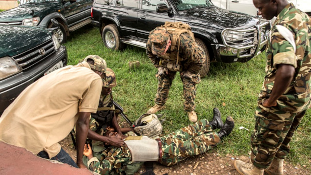
[[[43,28],[0,25],[0,58],[23,53],[51,38]]]

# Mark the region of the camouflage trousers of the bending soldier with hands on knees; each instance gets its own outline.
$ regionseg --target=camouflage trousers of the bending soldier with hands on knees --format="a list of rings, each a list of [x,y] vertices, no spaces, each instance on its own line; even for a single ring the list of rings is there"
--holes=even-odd
[[[169,74],[156,74],[156,78],[158,79],[158,89],[156,93],[155,103],[163,106],[167,100],[169,95],[169,89],[172,86],[172,82],[175,78],[176,72],[168,71]],[[194,83],[190,78],[186,78],[180,75],[180,78],[183,82],[183,108],[185,111],[194,111],[195,104],[194,100],[196,97],[196,87],[197,83]]]

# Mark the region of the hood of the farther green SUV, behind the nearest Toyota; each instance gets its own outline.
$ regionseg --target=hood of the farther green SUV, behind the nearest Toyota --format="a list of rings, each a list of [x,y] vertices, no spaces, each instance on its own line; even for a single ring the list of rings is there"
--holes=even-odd
[[[58,6],[58,3],[24,4],[1,12],[0,21],[22,21],[23,19],[31,18],[31,15],[28,13],[30,10],[34,10],[33,16],[39,16],[41,18],[55,11],[55,6]]]

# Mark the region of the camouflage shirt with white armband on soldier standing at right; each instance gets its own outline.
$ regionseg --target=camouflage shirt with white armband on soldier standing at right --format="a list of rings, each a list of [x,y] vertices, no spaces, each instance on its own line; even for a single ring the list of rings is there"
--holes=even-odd
[[[281,26],[281,27],[280,27]],[[285,39],[286,28],[293,38],[292,44]],[[286,30],[285,29],[285,30]],[[311,71],[311,19],[290,3],[277,16],[267,44],[266,76],[258,103],[272,92],[277,65],[290,64],[295,67],[294,81],[285,93],[277,100],[278,106],[284,111],[299,112],[309,106],[310,100],[310,71]]]

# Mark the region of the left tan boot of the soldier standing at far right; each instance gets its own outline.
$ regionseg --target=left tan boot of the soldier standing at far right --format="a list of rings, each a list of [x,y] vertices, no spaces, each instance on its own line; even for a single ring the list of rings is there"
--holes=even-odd
[[[234,162],[235,169],[242,175],[263,175],[265,169],[257,168],[253,163],[245,163],[241,160]]]

